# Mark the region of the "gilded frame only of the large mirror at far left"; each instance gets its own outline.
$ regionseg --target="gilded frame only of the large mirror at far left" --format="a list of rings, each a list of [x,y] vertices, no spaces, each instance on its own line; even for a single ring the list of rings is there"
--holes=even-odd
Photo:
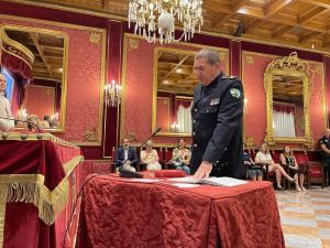
[[[65,32],[56,31],[56,30],[46,30],[42,28],[34,26],[23,26],[23,25],[12,25],[12,24],[3,24],[0,25],[1,30],[13,30],[21,32],[35,32],[47,35],[54,35],[63,39],[63,73],[62,73],[62,94],[61,94],[61,110],[59,110],[59,125],[57,128],[47,128],[45,129],[48,132],[64,132],[65,131],[65,116],[66,116],[66,96],[67,96],[67,71],[68,71],[68,44],[69,36]],[[9,37],[8,37],[9,39]],[[20,44],[14,40],[9,39],[12,43]],[[23,45],[22,45],[23,46]],[[15,128],[20,130],[22,128]]]

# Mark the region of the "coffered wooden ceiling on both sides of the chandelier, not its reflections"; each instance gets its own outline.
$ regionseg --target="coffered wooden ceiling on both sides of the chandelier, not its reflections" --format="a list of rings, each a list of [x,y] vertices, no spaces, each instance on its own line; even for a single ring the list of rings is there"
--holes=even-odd
[[[128,0],[10,0],[114,17],[128,14]],[[329,0],[204,0],[202,31],[268,41],[330,53]]]

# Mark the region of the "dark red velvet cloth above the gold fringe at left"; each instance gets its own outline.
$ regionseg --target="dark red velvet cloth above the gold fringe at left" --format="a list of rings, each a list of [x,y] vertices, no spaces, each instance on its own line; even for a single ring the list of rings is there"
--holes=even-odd
[[[42,174],[52,191],[65,176],[63,164],[79,154],[79,149],[51,140],[1,140],[0,174]]]

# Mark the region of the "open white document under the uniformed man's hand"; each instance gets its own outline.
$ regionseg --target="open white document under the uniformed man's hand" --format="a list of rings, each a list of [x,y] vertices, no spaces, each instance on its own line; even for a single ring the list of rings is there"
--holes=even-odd
[[[168,179],[167,181],[177,182],[177,183],[209,184],[215,186],[238,186],[248,183],[244,180],[238,180],[238,179],[232,179],[227,176],[222,176],[222,177],[211,176],[201,180],[195,180],[193,176],[188,176],[188,177]]]

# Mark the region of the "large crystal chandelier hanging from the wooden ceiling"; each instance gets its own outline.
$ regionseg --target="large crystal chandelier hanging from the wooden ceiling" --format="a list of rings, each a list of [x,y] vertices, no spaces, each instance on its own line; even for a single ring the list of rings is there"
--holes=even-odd
[[[156,42],[156,32],[161,44],[175,41],[189,41],[195,29],[202,25],[202,0],[130,0],[129,29],[135,22],[134,34],[143,35],[147,42]],[[175,39],[175,21],[184,26],[183,35]]]

